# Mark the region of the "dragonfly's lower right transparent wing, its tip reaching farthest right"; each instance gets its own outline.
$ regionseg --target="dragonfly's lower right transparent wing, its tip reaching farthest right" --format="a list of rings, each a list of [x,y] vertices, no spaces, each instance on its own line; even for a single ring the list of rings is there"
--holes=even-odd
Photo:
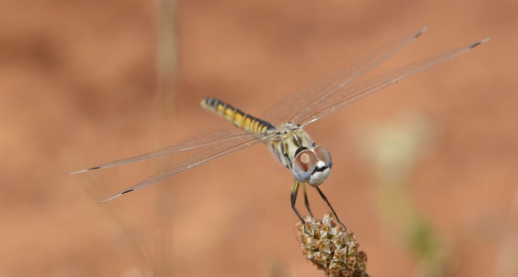
[[[324,97],[316,100],[311,106],[308,106],[308,109],[305,109],[306,113],[300,113],[300,116],[295,118],[294,122],[301,124],[302,126],[315,122],[316,120],[334,113],[369,94],[385,88],[386,86],[397,83],[400,80],[412,76],[431,66],[447,61],[454,56],[466,53],[488,39],[489,38],[486,38],[481,41],[450,50],[420,62],[402,66],[355,86],[344,88],[344,86],[339,85],[336,88],[333,88],[332,93],[325,94]]]

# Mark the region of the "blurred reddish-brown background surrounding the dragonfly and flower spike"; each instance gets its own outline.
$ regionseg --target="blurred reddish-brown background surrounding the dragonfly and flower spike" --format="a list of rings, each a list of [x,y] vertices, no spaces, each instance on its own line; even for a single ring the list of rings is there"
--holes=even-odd
[[[335,161],[322,189],[373,275],[516,273],[516,1],[0,6],[0,275],[323,275],[299,249],[291,174],[262,145],[104,205],[186,155],[67,172],[229,127],[199,108],[206,96],[260,115],[425,24],[369,76],[492,40],[309,126]],[[395,200],[376,162],[391,134],[416,145]]]

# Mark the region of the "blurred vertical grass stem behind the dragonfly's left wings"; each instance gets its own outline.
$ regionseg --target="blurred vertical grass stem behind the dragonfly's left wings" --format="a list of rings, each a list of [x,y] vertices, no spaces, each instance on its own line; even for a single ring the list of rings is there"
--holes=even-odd
[[[178,72],[178,49],[176,37],[176,3],[172,0],[156,0],[156,75],[157,75],[157,97],[155,109],[159,114],[156,122],[155,141],[157,147],[167,145],[169,132],[171,129],[171,118],[175,112],[175,85]],[[168,166],[169,161],[160,161],[157,167],[161,169]],[[159,186],[157,195],[156,220],[157,231],[155,241],[155,263],[153,275],[170,276],[174,267],[172,254],[174,251],[172,236],[172,223],[175,218],[175,203],[177,187],[171,184],[172,180]]]

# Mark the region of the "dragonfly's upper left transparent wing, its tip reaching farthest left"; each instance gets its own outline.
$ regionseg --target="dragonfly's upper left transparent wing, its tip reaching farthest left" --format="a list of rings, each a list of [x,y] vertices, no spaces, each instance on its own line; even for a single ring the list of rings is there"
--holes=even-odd
[[[253,138],[256,136],[257,136],[257,134],[244,133],[243,130],[238,129],[238,128],[216,130],[214,132],[210,132],[210,133],[206,133],[203,135],[199,135],[196,137],[186,139],[175,145],[170,145],[168,147],[164,147],[159,150],[155,150],[153,152],[149,152],[146,154],[142,154],[142,155],[138,155],[138,156],[134,156],[134,157],[130,157],[130,158],[118,159],[117,161],[92,166],[87,169],[71,172],[70,174],[76,174],[76,173],[85,172],[85,171],[94,170],[94,169],[108,168],[108,167],[133,163],[133,162],[137,162],[137,161],[142,161],[144,159],[163,156],[163,155],[167,155],[167,154],[189,151],[189,150],[193,150],[193,149],[197,149],[197,148],[201,148],[201,147],[208,147],[208,146],[214,145],[214,144],[232,142],[232,141],[235,141],[238,139],[250,139],[250,138]]]

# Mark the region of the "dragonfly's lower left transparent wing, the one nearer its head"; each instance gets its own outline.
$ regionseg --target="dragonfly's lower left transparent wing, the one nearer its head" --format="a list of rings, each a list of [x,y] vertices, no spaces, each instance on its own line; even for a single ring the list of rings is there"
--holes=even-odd
[[[219,157],[222,157],[226,154],[241,150],[246,147],[250,147],[251,145],[254,145],[258,142],[263,141],[264,139],[267,139],[269,136],[275,136],[276,133],[267,133],[267,134],[255,134],[255,137],[250,137],[246,139],[239,139],[238,141],[231,141],[226,142],[223,144],[215,145],[214,147],[208,149],[207,151],[201,152],[197,155],[192,156],[191,158],[186,159],[185,161],[170,167],[164,171],[161,171],[157,174],[154,174],[153,176],[149,177],[146,180],[143,180],[142,182],[129,187],[125,189],[124,191],[104,200],[102,203],[106,201],[110,201],[114,198],[117,198],[123,194],[130,193],[133,191],[136,191],[139,188],[151,185],[155,182],[161,181],[169,176],[172,176],[176,173],[182,172],[184,170],[205,164],[207,162],[212,161],[213,159],[217,159]]]

